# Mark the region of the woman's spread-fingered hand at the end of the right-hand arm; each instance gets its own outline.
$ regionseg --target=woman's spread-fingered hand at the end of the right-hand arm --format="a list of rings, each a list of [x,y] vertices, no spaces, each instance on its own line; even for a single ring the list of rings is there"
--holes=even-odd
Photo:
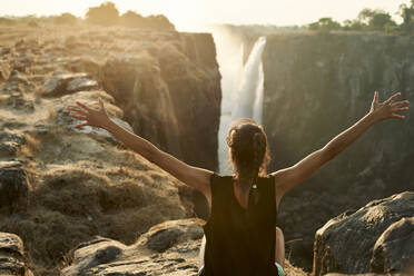
[[[379,102],[378,92],[375,91],[369,114],[372,114],[377,121],[386,119],[404,119],[405,116],[400,115],[398,112],[408,111],[410,101],[402,100],[394,102],[400,96],[401,92],[397,92],[391,96],[386,101]]]

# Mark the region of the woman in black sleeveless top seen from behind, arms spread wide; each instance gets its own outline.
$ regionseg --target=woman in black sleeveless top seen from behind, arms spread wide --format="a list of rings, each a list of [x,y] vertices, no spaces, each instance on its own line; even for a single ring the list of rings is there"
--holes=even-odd
[[[116,125],[109,119],[101,99],[99,110],[81,102],[77,102],[79,107],[69,109],[71,117],[85,120],[76,127],[93,126],[108,130],[127,147],[206,196],[210,217],[204,226],[199,275],[282,276],[285,243],[282,230],[276,227],[276,210],[282,197],[375,122],[404,119],[397,112],[408,110],[410,102],[394,102],[400,96],[398,92],[379,102],[378,92],[375,92],[371,110],[355,125],[296,165],[269,175],[266,175],[269,161],[266,134],[252,119],[238,120],[229,129],[227,144],[234,175],[219,176],[189,166]]]

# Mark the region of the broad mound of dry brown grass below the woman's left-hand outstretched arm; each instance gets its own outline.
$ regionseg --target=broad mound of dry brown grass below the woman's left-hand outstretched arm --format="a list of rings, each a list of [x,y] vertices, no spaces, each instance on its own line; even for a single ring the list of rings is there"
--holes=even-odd
[[[124,174],[120,180],[102,174],[106,168],[76,166],[38,172],[23,216],[0,213],[0,229],[22,238],[36,275],[59,275],[70,250],[96,235],[134,244],[152,225],[188,216],[177,188],[166,187],[168,179],[159,190],[150,176],[127,167],[108,169]]]

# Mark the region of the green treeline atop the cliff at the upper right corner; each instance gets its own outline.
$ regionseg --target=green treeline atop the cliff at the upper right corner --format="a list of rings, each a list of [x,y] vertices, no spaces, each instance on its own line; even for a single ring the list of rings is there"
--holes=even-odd
[[[401,4],[398,14],[403,22],[396,23],[388,12],[383,10],[364,9],[354,20],[345,20],[339,23],[332,18],[321,18],[308,24],[309,30],[329,32],[335,30],[345,31],[382,31],[382,32],[414,32],[414,0],[410,4]]]

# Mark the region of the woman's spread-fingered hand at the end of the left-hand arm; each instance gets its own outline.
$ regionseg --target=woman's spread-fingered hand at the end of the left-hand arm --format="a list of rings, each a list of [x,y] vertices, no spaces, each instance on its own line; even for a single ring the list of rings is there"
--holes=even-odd
[[[105,128],[108,121],[110,121],[109,116],[107,114],[107,110],[103,107],[102,99],[99,98],[99,110],[93,110],[83,103],[77,101],[78,108],[69,107],[69,116],[78,119],[78,120],[85,120],[82,124],[78,124],[75,127],[80,128],[85,126],[91,126],[91,127],[99,127]]]

